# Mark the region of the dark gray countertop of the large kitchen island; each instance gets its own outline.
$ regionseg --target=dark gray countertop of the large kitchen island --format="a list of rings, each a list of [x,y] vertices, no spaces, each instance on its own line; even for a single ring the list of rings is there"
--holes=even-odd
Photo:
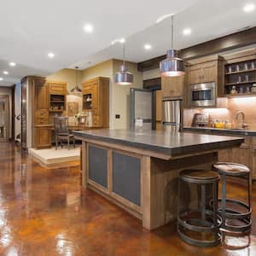
[[[130,130],[94,130],[94,131],[73,131],[75,137],[84,140],[93,139],[107,143],[117,143],[124,146],[136,147],[154,151],[157,153],[169,154],[191,154],[218,150],[218,148],[231,148],[239,146],[244,139],[239,137],[224,137],[216,135],[205,135],[189,132],[169,131],[143,131],[135,132]]]

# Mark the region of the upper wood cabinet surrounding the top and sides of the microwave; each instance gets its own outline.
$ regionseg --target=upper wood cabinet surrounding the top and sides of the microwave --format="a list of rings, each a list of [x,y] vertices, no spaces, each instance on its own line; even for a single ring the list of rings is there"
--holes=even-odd
[[[218,96],[224,96],[224,58],[212,55],[187,63],[186,93],[190,84],[215,82]]]

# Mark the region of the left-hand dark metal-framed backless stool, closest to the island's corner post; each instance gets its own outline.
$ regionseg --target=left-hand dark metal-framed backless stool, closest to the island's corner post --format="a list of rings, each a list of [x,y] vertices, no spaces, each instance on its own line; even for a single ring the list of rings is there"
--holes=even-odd
[[[212,247],[221,241],[217,172],[184,170],[178,176],[177,233],[194,246]],[[212,209],[209,207],[212,201]]]

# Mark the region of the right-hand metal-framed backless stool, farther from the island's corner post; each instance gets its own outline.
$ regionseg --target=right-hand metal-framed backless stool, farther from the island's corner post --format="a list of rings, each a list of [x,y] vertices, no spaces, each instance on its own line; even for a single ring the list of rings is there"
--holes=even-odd
[[[247,233],[251,230],[251,187],[250,169],[247,166],[230,162],[218,162],[212,165],[212,170],[217,171],[222,179],[222,198],[218,201],[218,209],[222,217],[221,230],[234,234]],[[226,198],[226,177],[245,177],[247,179],[247,203]]]

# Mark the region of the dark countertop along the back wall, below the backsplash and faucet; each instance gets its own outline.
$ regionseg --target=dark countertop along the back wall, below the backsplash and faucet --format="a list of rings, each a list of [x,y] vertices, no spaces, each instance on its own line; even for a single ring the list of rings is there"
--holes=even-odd
[[[201,131],[213,132],[216,134],[235,135],[235,136],[256,136],[256,131],[251,130],[238,130],[238,129],[218,129],[212,127],[183,127],[183,131]]]

